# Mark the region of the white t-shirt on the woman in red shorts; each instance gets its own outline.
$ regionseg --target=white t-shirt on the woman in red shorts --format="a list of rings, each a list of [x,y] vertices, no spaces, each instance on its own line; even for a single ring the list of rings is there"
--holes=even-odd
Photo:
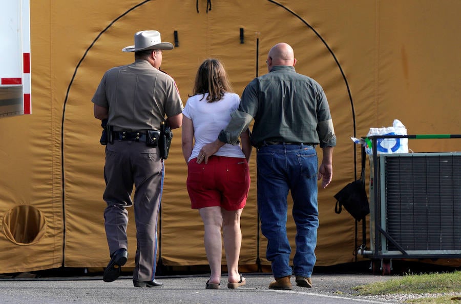
[[[214,103],[208,103],[206,96],[208,93],[204,97],[203,94],[198,94],[188,98],[182,111],[194,125],[195,143],[187,161],[197,157],[204,145],[218,138],[219,132],[227,127],[231,120],[231,113],[237,110],[240,104],[240,97],[235,93],[225,93],[221,100]],[[231,144],[225,144],[214,155],[245,158],[240,146]]]

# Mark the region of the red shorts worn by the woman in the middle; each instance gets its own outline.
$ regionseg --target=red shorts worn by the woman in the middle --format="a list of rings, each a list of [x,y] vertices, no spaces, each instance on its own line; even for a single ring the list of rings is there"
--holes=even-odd
[[[197,164],[193,158],[187,165],[187,192],[192,209],[221,206],[232,211],[245,207],[250,185],[245,158],[213,155],[208,164]]]

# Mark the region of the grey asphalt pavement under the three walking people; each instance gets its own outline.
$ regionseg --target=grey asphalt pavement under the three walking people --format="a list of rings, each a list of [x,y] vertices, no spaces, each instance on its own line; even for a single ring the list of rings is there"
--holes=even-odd
[[[125,304],[125,303],[253,303],[253,304],[354,304],[398,303],[385,296],[358,296],[355,286],[385,281],[392,276],[371,274],[320,274],[312,276],[312,288],[297,287],[291,277],[291,291],[269,290],[269,274],[243,274],[246,285],[227,288],[223,276],[219,290],[205,289],[207,275],[158,276],[162,288],[135,288],[131,276],[103,282],[102,276],[3,278],[0,279],[0,303],[5,304]]]

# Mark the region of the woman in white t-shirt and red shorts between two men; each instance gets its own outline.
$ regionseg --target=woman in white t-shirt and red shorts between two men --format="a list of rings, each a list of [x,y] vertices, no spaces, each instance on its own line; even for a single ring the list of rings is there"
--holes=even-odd
[[[182,152],[187,163],[187,192],[192,209],[199,210],[205,229],[205,251],[211,269],[207,289],[220,288],[221,227],[227,288],[245,285],[245,278],[238,272],[238,261],[242,242],[240,215],[250,185],[249,130],[240,136],[241,146],[226,144],[208,158],[207,164],[197,164],[200,149],[218,137],[239,103],[240,97],[232,93],[222,64],[217,59],[206,59],[197,71],[193,95],[182,112]]]

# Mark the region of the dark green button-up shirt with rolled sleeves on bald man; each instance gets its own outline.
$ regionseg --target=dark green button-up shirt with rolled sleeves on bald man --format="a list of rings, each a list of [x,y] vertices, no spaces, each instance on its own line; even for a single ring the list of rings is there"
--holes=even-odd
[[[264,140],[336,146],[333,122],[322,87],[291,66],[275,66],[243,91],[239,108],[219,139],[236,144],[252,119],[252,144]]]

